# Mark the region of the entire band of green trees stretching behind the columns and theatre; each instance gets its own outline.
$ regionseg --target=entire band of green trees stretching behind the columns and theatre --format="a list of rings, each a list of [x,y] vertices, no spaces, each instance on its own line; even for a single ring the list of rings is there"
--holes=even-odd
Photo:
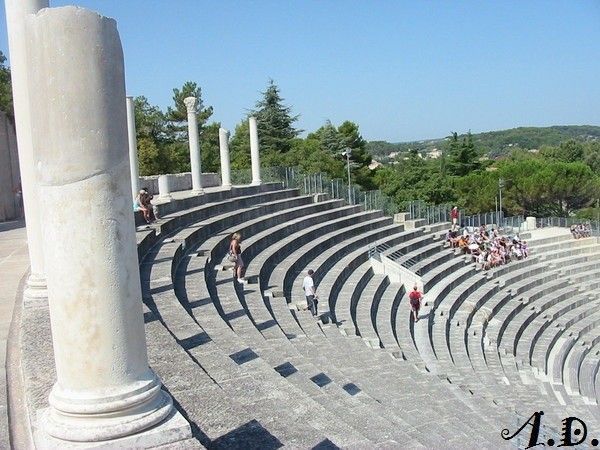
[[[5,61],[0,52],[0,110],[12,117],[10,69]],[[150,104],[144,96],[134,99],[140,174],[190,171],[187,109],[183,103],[189,96],[198,100],[203,171],[219,171],[221,124],[210,121],[213,107],[204,104],[198,84],[188,81],[173,89],[172,104],[166,110]],[[470,132],[452,133],[444,140],[427,141],[427,145],[435,142],[441,149],[440,158],[424,159],[417,148],[411,148],[389,164],[371,170],[368,145],[373,143],[363,139],[358,124],[326,121],[301,137],[303,130],[295,127],[298,115],[292,113],[279,87],[270,80],[230,138],[233,170],[250,168],[250,115],[257,118],[263,166],[297,167],[305,173],[323,172],[330,178],[345,179],[342,152],[349,148],[353,183],[364,190],[380,189],[401,207],[410,200],[423,200],[457,204],[468,214],[488,212],[495,210],[502,189],[506,215],[578,214],[596,218],[600,212],[594,208],[600,198],[600,141],[590,139],[598,127],[551,127],[552,133],[563,133],[561,136],[567,131],[583,136],[542,145],[536,151],[513,146],[509,153],[493,159],[488,157],[481,138]],[[539,138],[540,133],[529,132],[529,136],[536,135]],[[544,132],[541,136],[546,139],[548,135]]]

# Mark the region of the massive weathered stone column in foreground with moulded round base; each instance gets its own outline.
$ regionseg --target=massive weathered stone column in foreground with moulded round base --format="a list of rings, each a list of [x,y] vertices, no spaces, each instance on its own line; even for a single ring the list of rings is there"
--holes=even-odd
[[[52,205],[44,250],[57,376],[36,447],[180,439],[189,427],[153,428],[176,416],[148,367],[116,22],[67,6],[30,16],[27,32],[37,176]]]

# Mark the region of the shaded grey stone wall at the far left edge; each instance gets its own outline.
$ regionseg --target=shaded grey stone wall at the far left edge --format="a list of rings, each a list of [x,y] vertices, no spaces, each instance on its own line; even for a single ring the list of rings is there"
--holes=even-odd
[[[0,111],[0,222],[21,216],[21,207],[14,192],[20,183],[15,125],[6,113]]]

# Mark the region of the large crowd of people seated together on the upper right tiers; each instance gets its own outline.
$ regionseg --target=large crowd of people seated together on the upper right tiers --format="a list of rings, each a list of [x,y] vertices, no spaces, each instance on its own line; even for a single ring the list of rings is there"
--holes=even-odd
[[[489,270],[510,262],[527,258],[529,247],[518,235],[510,237],[501,235],[497,229],[488,230],[485,225],[469,232],[448,230],[446,245],[459,249],[465,255],[471,255],[483,270]]]

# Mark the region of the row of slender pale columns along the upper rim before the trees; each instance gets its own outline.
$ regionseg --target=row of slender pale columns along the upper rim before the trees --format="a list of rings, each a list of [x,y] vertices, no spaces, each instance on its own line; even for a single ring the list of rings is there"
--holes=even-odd
[[[127,97],[127,131],[129,144],[129,164],[131,167],[131,193],[135,198],[140,190],[138,154],[135,129],[135,106],[133,97]],[[200,157],[200,140],[198,137],[198,119],[196,117],[195,97],[187,97],[184,104],[188,114],[188,141],[190,147],[190,162],[192,168],[192,194],[202,194],[202,163]],[[252,167],[252,185],[261,184],[260,177],[260,153],[258,141],[258,126],[256,117],[248,119],[250,129],[250,159]],[[221,186],[231,188],[231,164],[229,158],[229,131],[219,128],[219,154],[221,159]],[[171,198],[169,177],[161,175],[158,178],[158,190],[161,200]]]

